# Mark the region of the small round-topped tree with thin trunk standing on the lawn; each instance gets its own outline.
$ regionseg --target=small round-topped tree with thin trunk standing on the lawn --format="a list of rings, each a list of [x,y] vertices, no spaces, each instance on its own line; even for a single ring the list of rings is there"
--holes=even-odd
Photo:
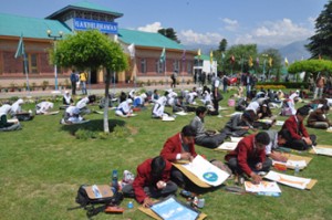
[[[51,51],[52,61],[64,67],[75,66],[79,70],[106,69],[104,132],[108,127],[108,88],[111,72],[124,71],[128,67],[128,57],[121,45],[97,30],[81,31],[66,35],[59,41],[56,51]]]

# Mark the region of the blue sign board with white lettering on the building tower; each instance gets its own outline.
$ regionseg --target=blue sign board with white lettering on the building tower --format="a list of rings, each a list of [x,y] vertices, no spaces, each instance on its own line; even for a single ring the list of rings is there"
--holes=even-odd
[[[86,31],[89,29],[97,29],[103,33],[117,33],[117,23],[107,21],[95,21],[87,19],[74,19],[74,29]]]

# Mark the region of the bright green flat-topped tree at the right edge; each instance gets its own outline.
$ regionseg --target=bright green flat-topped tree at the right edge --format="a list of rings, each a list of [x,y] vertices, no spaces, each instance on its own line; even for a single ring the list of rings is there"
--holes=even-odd
[[[326,74],[332,72],[332,61],[326,60],[308,60],[308,61],[297,61],[288,67],[288,72],[297,74],[300,72],[305,72],[304,81],[308,80],[309,74],[313,74],[317,78],[318,74]]]

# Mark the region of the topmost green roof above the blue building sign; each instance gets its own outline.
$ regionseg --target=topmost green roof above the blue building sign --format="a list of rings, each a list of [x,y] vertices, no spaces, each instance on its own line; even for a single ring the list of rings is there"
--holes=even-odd
[[[92,3],[92,2],[89,2],[89,1],[81,1],[81,2],[77,2],[77,3],[69,4],[64,8],[55,11],[51,15],[48,15],[46,19],[54,19],[58,15],[63,14],[66,11],[70,11],[70,10],[84,10],[84,11],[92,11],[92,12],[97,12],[97,13],[105,13],[105,14],[114,15],[115,18],[123,17],[123,13],[112,11],[111,9],[107,9],[103,6]]]

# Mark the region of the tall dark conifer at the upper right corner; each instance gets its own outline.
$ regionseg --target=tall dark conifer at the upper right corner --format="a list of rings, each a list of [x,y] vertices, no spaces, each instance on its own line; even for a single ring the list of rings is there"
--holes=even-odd
[[[315,34],[309,38],[310,43],[305,48],[312,57],[331,59],[332,54],[332,1],[330,0],[324,10],[315,20]]]

